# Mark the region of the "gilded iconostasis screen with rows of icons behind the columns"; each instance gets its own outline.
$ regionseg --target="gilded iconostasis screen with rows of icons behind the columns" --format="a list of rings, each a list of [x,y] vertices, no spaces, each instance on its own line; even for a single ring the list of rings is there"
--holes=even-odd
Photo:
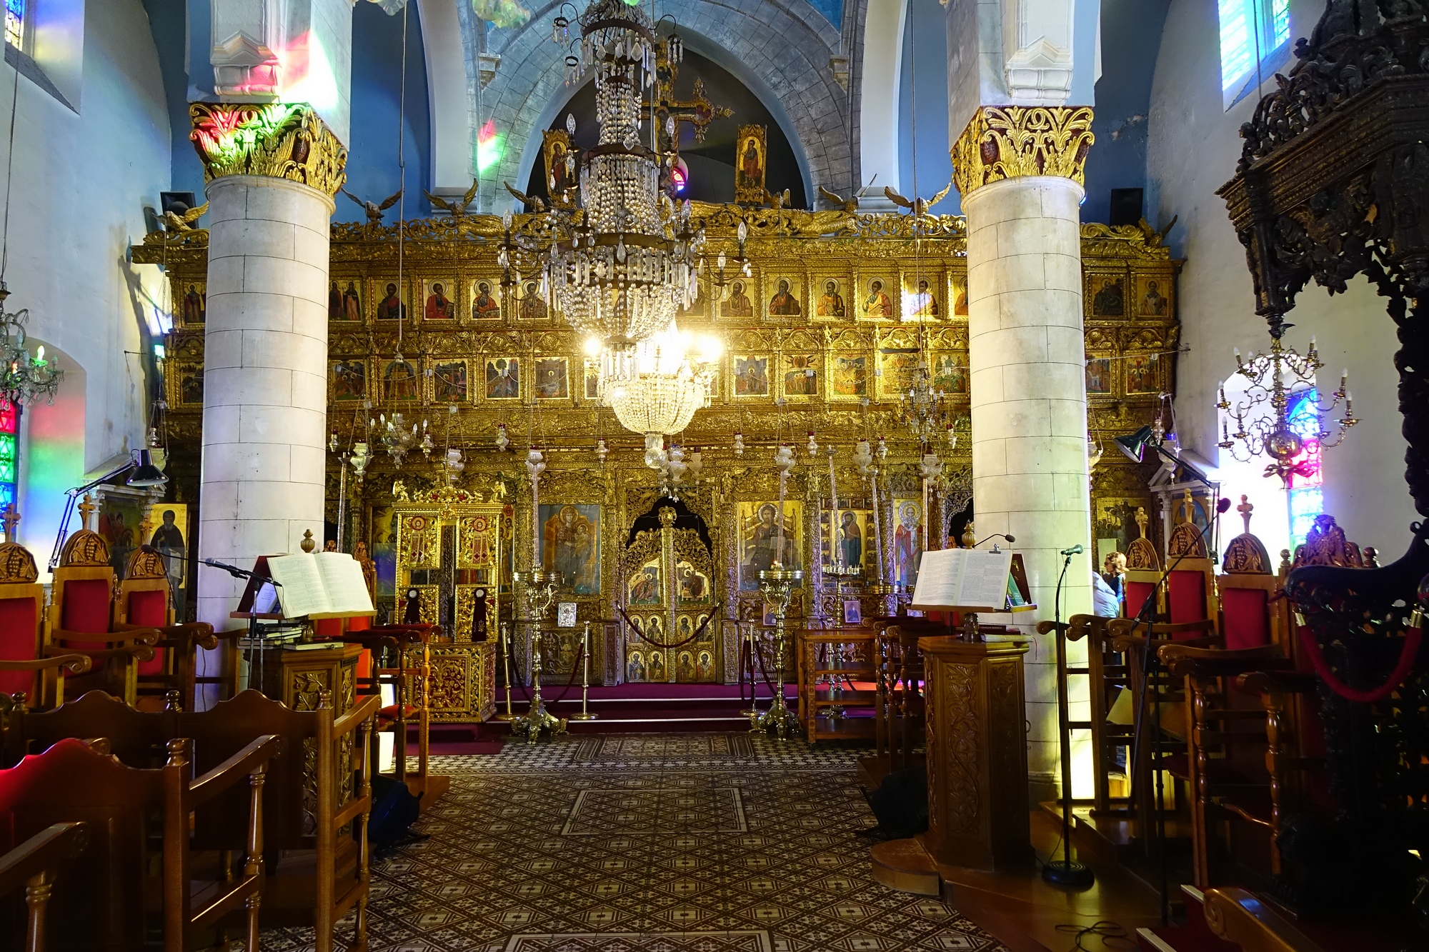
[[[709,246],[699,297],[679,326],[716,336],[723,353],[709,406],[670,440],[696,465],[674,489],[667,525],[643,437],[599,406],[599,365],[586,342],[544,300],[539,279],[497,264],[500,219],[409,222],[400,274],[396,227],[333,226],[327,416],[339,450],[329,456],[327,532],[336,535],[342,519],[343,547],[367,546],[380,612],[393,612],[399,587],[412,582],[413,565],[399,552],[403,512],[433,520],[423,616],[463,629],[462,638],[476,636],[476,616],[486,619],[480,638],[523,616],[510,573],[532,565],[533,549],[536,565],[562,573],[556,600],[574,603],[576,626],[554,633],[546,665],[556,676],[570,672],[590,620],[596,680],[735,679],[735,620],[760,619],[757,572],[775,560],[805,570],[790,609],[799,618],[842,610],[849,596],[825,576],[833,562],[859,566],[867,583],[915,582],[927,525],[946,537],[970,499],[962,219],[925,216],[915,234],[899,214],[696,204],[693,216]],[[737,262],[740,222],[746,266]],[[517,236],[532,227],[516,217]],[[166,264],[173,289],[169,470],[173,502],[190,506],[201,445],[206,239],[183,233],[166,247],[150,236],[134,249],[136,260]],[[1173,390],[1180,263],[1155,233],[1100,224],[1083,226],[1082,256],[1089,432],[1093,447],[1110,450],[1089,487],[1093,537],[1125,550],[1140,532],[1136,509],[1153,512],[1155,465],[1123,459],[1112,437],[1150,423],[1159,395]],[[957,437],[933,447],[946,467],[929,495],[899,407],[922,362],[946,395]],[[394,413],[424,427],[430,453],[413,449],[397,466],[383,452],[370,422],[380,427]],[[875,486],[855,467],[853,447],[879,437],[887,456],[877,463],[875,512]],[[342,459],[360,440],[372,445],[372,463],[362,479],[350,467],[342,476]],[[607,453],[597,453],[597,440]],[[782,510],[772,463],[779,443],[799,457]],[[530,445],[547,465],[536,512],[523,466]],[[444,467],[449,449],[460,450],[460,472]],[[463,513],[490,515],[492,566],[479,585],[460,575],[476,565],[460,556]],[[489,599],[480,612],[476,587]],[[552,625],[554,616],[553,608]]]

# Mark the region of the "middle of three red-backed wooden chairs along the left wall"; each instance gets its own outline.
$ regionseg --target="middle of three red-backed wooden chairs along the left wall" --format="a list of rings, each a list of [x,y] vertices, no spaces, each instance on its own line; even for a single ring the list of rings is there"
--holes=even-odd
[[[89,529],[94,505],[79,505],[84,527],[64,542],[54,569],[50,612],[46,620],[44,653],[86,655],[93,669],[74,688],[106,690],[126,703],[137,699],[139,665],[154,659],[154,645],[163,638],[156,628],[116,630],[113,619],[114,569],[109,543]]]

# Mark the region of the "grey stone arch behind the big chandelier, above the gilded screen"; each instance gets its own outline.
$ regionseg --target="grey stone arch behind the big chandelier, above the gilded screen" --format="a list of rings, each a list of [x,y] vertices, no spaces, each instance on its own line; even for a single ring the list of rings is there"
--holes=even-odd
[[[557,4],[547,4],[520,30],[489,34],[502,67],[483,100],[506,146],[500,162],[482,174],[483,209],[500,212],[513,204],[502,182],[526,182],[537,152],[530,143],[540,140],[540,130],[574,91],[564,87],[564,50],[550,41],[556,10]],[[660,13],[674,16],[692,50],[727,69],[765,101],[795,147],[810,202],[819,186],[850,187],[849,96],[829,69],[840,37],[817,10],[803,0],[760,0],[737,9],[667,0]]]

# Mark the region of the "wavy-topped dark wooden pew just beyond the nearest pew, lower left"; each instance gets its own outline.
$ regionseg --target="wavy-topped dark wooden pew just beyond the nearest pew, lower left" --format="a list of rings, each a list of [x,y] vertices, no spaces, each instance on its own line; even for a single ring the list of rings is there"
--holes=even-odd
[[[199,713],[177,708],[141,712],[93,692],[56,710],[11,715],[4,755],[14,759],[64,738],[104,733],[114,756],[131,766],[147,766],[173,738],[189,738],[194,769],[206,770],[221,765],[256,735],[274,735],[280,756],[263,785],[269,871],[263,923],[313,925],[319,952],[330,952],[337,921],[356,908],[354,948],[363,948],[370,735],[380,700],[366,698],[340,718],[334,718],[326,692],[309,700],[310,709],[293,710],[256,690],[244,690]],[[239,792],[216,798],[196,813],[194,846],[220,855],[242,852],[246,816]],[[344,832],[353,823],[359,823],[356,836]]]

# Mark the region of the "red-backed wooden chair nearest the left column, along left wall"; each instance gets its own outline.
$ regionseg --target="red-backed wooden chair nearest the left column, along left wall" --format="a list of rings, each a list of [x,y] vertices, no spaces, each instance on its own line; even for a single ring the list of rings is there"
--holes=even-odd
[[[147,527],[147,522],[144,525]],[[207,622],[174,623],[164,559],[151,546],[139,546],[129,556],[124,580],[119,583],[113,630],[154,629],[160,633],[154,656],[139,662],[136,669],[137,700],[140,705],[157,709],[170,690],[177,690],[184,710],[194,710],[199,649],[216,649],[219,639]]]

